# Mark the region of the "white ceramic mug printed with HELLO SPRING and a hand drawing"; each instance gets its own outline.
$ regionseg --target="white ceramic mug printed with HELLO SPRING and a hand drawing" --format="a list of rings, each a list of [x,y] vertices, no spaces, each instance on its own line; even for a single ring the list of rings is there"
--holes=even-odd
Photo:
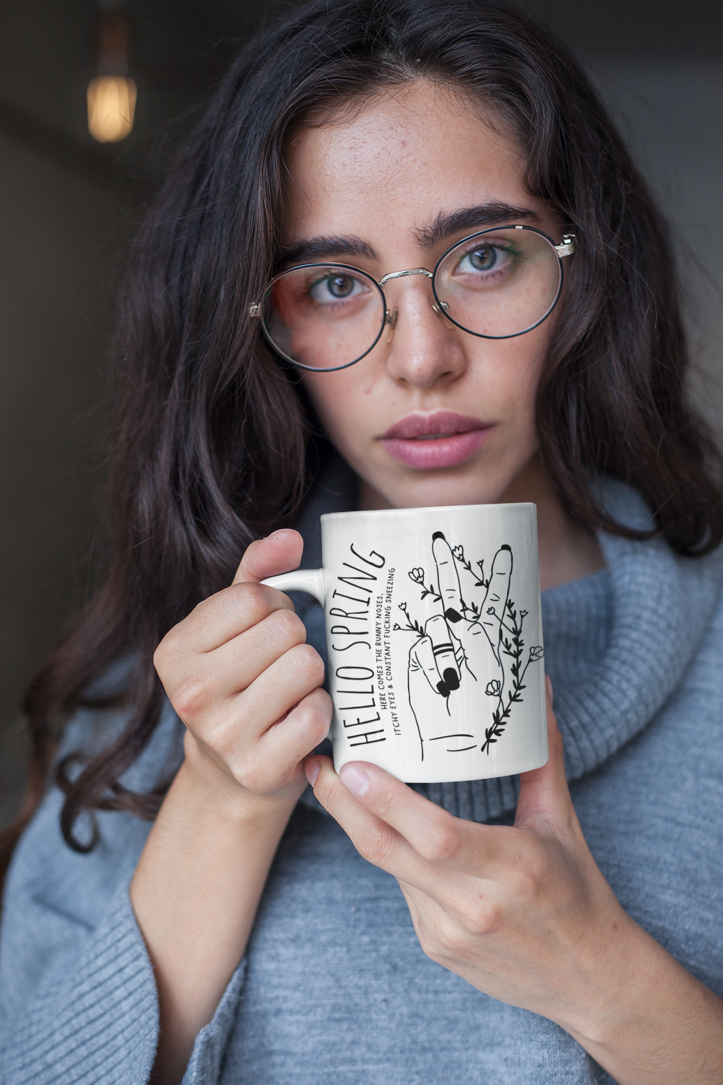
[[[324,608],[336,770],[479,780],[547,761],[534,505],[335,512],[323,569],[263,580]]]

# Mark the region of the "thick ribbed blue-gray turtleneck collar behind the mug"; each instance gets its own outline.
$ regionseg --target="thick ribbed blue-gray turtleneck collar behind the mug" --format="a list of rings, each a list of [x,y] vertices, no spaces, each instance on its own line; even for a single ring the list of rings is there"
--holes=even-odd
[[[619,523],[653,526],[645,502],[629,486],[603,478],[599,490]],[[319,516],[347,511],[353,502],[353,476],[335,459],[299,518],[302,567],[321,564]],[[661,539],[634,541],[605,533],[598,538],[607,567],[542,596],[545,669],[553,679],[570,780],[594,771],[655,718],[695,656],[723,586],[720,549],[705,558],[682,558]],[[308,596],[295,593],[295,602],[309,641],[325,659],[321,608]],[[474,821],[504,818],[516,806],[518,786],[517,777],[413,784]],[[310,790],[304,801],[318,806]]]

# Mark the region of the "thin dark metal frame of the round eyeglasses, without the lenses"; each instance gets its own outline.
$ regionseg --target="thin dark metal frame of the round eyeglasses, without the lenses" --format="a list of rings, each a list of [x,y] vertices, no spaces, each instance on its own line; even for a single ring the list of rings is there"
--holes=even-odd
[[[456,320],[454,320],[453,317],[450,317],[449,312],[447,311],[448,309],[447,303],[442,302],[439,295],[437,294],[437,271],[439,270],[439,267],[442,264],[442,261],[446,260],[449,254],[459,245],[464,245],[467,242],[474,241],[476,238],[482,238],[485,237],[485,234],[488,233],[498,233],[500,230],[527,230],[530,233],[538,233],[541,238],[544,238],[545,241],[550,242],[551,247],[553,248],[555,255],[557,256],[557,263],[559,265],[559,285],[557,288],[557,293],[555,294],[554,302],[545,312],[544,317],[540,317],[540,319],[535,321],[535,323],[530,324],[529,328],[525,328],[521,332],[512,332],[509,335],[486,335],[483,332],[470,331],[469,328],[465,328],[464,324],[459,323]],[[444,250],[442,255],[435,264],[432,271],[428,271],[427,268],[409,268],[404,271],[390,271],[388,275],[383,276],[378,282],[373,276],[369,273],[369,271],[363,271],[362,268],[354,267],[353,264],[337,264],[336,261],[332,260],[313,261],[308,264],[295,264],[293,267],[286,268],[284,271],[280,271],[279,275],[274,276],[273,279],[271,279],[267,283],[263,290],[262,301],[256,302],[251,306],[249,306],[249,316],[260,318],[261,331],[263,332],[264,337],[273,347],[275,353],[280,355],[280,357],[284,358],[286,361],[289,361],[293,366],[297,366],[299,369],[305,369],[310,373],[335,373],[338,372],[338,370],[340,369],[349,369],[350,366],[356,366],[358,361],[361,361],[362,358],[365,358],[367,354],[371,354],[371,352],[374,349],[376,344],[382,339],[384,329],[387,327],[387,324],[393,328],[395,324],[397,323],[398,310],[395,309],[393,314],[389,312],[389,309],[387,308],[387,298],[383,289],[384,283],[388,282],[390,279],[401,279],[412,275],[424,275],[430,280],[431,293],[435,298],[435,304],[432,305],[432,309],[439,316],[444,316],[450,321],[450,323],[454,324],[455,328],[459,328],[460,331],[466,332],[467,335],[475,335],[477,339],[490,339],[490,340],[517,339],[518,335],[526,335],[528,332],[533,331],[533,329],[539,328],[540,324],[547,319],[547,317],[551,315],[551,312],[557,305],[560,294],[563,293],[563,284],[565,281],[565,269],[563,267],[563,257],[571,256],[572,253],[574,252],[574,247],[576,247],[574,233],[564,233],[563,243],[561,245],[558,245],[555,243],[554,239],[550,237],[548,233],[544,232],[544,230],[539,230],[534,226],[518,226],[517,224],[513,222],[507,226],[491,226],[488,227],[486,230],[477,230],[475,233],[469,233],[467,234],[466,238],[462,238],[460,241],[455,241],[453,245],[450,245],[449,248]],[[292,358],[291,355],[285,354],[274,343],[273,339],[271,337],[271,334],[269,333],[266,327],[266,321],[263,319],[263,302],[266,301],[269,291],[273,288],[274,283],[277,282],[280,279],[283,279],[284,276],[289,273],[289,271],[300,271],[304,268],[327,268],[327,267],[341,268],[345,271],[353,271],[354,275],[363,276],[364,279],[366,279],[370,283],[372,283],[372,285],[375,286],[376,290],[378,291],[379,296],[382,298],[384,318],[382,320],[382,324],[379,327],[379,331],[376,335],[376,339],[374,340],[372,345],[367,347],[366,350],[364,350],[363,354],[359,355],[358,358],[354,358],[353,361],[347,361],[343,366],[330,366],[327,369],[320,369],[315,366],[305,366],[302,361],[297,361],[295,358]]]

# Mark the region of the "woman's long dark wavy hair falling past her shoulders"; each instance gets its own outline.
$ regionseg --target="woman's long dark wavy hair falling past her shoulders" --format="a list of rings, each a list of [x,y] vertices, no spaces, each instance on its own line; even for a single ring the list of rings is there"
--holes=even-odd
[[[30,789],[7,851],[80,706],[124,703],[128,718],[102,752],[56,770],[67,843],[92,846],[74,832],[83,813],[156,814],[163,782],[149,794],[119,783],[158,723],[153,652],[231,582],[253,539],[294,522],[315,470],[298,380],[248,315],[277,266],[284,140],[324,108],[421,78],[480,101],[522,146],[527,190],[574,224],[576,273],[537,404],[542,460],[565,507],[588,528],[634,536],[595,503],[590,483],[603,472],[640,490],[680,553],[721,541],[720,459],[685,400],[667,227],[570,53],[494,0],[313,0],[243,50],[134,243],[105,578],[28,689]],[[122,691],[89,693],[121,659],[133,661]]]

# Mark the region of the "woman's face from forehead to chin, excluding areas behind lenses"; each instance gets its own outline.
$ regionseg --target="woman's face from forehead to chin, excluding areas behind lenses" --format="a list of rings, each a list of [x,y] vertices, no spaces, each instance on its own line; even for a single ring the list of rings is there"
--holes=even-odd
[[[304,128],[286,165],[285,246],[313,242],[310,258],[353,264],[377,281],[431,270],[451,244],[496,222],[561,241],[560,222],[522,188],[514,140],[429,82]],[[509,209],[490,218],[490,205]],[[320,252],[318,239],[328,247]],[[363,499],[397,508],[503,499],[537,452],[535,392],[557,310],[524,335],[486,340],[435,312],[425,276],[384,290],[399,311],[393,331],[348,369],[304,373]]]

